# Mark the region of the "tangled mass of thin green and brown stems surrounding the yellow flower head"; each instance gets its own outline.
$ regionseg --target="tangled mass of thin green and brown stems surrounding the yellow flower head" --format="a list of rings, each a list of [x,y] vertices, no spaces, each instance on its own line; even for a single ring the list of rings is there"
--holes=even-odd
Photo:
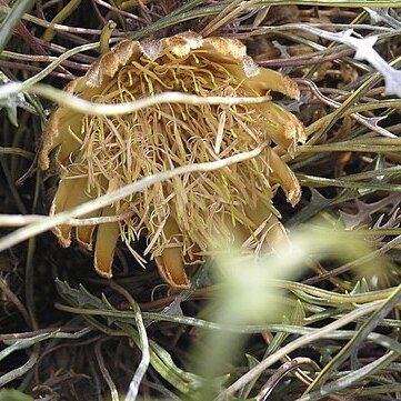
[[[288,229],[302,229],[305,249],[314,252],[300,260],[301,273],[290,278],[293,281],[280,284],[282,292],[277,297],[287,304],[282,314],[274,320],[235,320],[235,310],[227,312],[221,303],[235,308],[230,297],[243,297],[247,302],[252,289],[243,285],[238,293],[227,294],[224,285],[230,283],[215,272],[217,262],[207,260],[199,269],[190,268],[193,285],[178,294],[160,279],[152,261],[147,270],[141,269],[123,245],[109,282],[94,273],[92,255],[78,244],[62,249],[49,232],[32,237],[0,254],[0,383],[20,391],[0,391],[0,400],[122,400],[144,352],[138,334],[142,327],[139,310],[153,353],[139,399],[211,400],[260,361],[294,344],[301,334],[307,335],[303,343],[230,397],[295,400],[320,374],[322,379],[302,400],[401,398],[401,142],[397,138],[401,100],[387,94],[382,77],[374,78],[372,66],[353,59],[351,48],[297,28],[302,22],[330,32],[353,28],[361,38],[374,33],[378,52],[399,68],[400,9],[391,1],[331,3],[0,2],[3,83],[26,81],[49,64],[51,57],[104,40],[110,20],[117,24],[112,43],[127,37],[163,38],[187,30],[229,36],[241,39],[260,66],[303,79],[299,102],[278,99],[311,134],[290,161],[303,194],[294,209],[280,192],[274,202]],[[27,14],[22,17],[18,7]],[[7,24],[12,18],[14,23]],[[49,30],[50,21],[62,27]],[[12,33],[9,38],[6,29]],[[61,89],[82,76],[98,56],[99,49],[78,53],[41,82]],[[359,90],[369,79],[371,84]],[[333,100],[342,104],[337,114]],[[28,92],[0,102],[0,212],[46,215],[58,177],[54,171],[39,171],[36,154],[54,106]],[[362,107],[363,123],[351,116],[357,106]],[[313,129],[325,116],[331,116],[330,123]],[[381,117],[385,118],[379,131],[377,118]],[[319,223],[313,220],[317,217]],[[0,223],[2,238],[17,229],[6,225]],[[320,229],[327,231],[322,234]],[[353,242],[352,233],[361,242]],[[332,235],[332,244],[318,252],[311,244],[321,235]],[[144,241],[138,251],[143,247]],[[228,263],[239,262],[229,259]],[[352,313],[375,301],[381,303],[353,318]],[[261,298],[259,308],[269,309],[269,301]],[[378,308],[381,313],[373,313]],[[249,317],[253,313],[250,310]],[[347,324],[309,340],[308,335],[347,317]],[[214,327],[213,320],[220,325]],[[224,330],[230,324],[237,324],[235,334]],[[305,328],[317,331],[302,331]]]

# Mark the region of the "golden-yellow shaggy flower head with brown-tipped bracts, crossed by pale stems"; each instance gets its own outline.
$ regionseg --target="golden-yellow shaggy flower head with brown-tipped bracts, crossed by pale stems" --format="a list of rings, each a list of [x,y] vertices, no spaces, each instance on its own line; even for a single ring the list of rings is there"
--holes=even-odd
[[[66,90],[93,102],[120,103],[166,91],[200,97],[261,97],[270,91],[297,99],[288,77],[258,68],[235,39],[187,32],[158,41],[124,40],[103,54]],[[213,161],[267,144],[259,157],[229,167],[188,173],[152,186],[89,217],[134,214],[112,223],[78,227],[80,244],[91,249],[94,267],[110,278],[120,237],[132,250],[140,235],[164,279],[187,287],[184,263],[208,254],[218,238],[231,238],[254,253],[285,239],[272,198],[280,186],[293,205],[300,186],[273,150],[292,154],[304,141],[299,120],[272,101],[237,106],[163,103],[111,117],[77,114],[59,108],[43,134],[39,162],[49,153],[62,174],[51,213],[58,213],[149,174]],[[72,228],[54,229],[62,245]]]

